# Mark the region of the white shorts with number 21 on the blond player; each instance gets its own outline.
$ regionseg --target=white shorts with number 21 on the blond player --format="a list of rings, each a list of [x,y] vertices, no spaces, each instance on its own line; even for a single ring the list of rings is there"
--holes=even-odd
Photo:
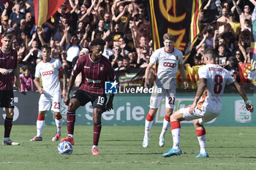
[[[173,109],[175,106],[176,88],[171,90],[162,89],[162,93],[152,93],[150,97],[150,108],[157,109],[165,98],[165,107]]]

